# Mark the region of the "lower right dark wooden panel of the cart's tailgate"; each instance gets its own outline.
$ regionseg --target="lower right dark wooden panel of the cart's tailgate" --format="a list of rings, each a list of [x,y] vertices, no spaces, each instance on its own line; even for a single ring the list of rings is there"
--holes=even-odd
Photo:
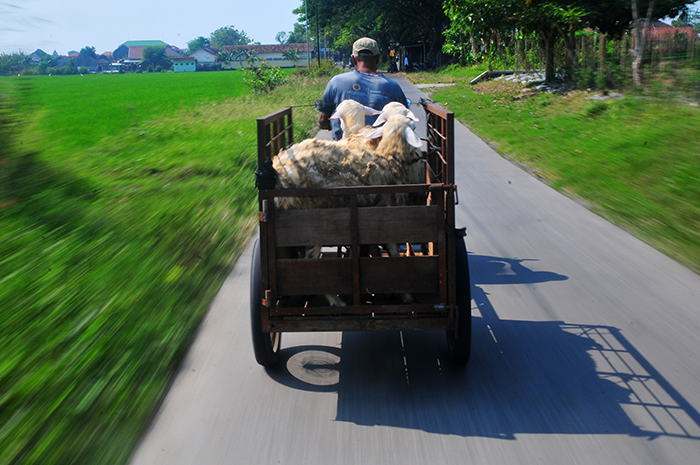
[[[437,293],[438,257],[360,258],[360,288],[369,294]]]

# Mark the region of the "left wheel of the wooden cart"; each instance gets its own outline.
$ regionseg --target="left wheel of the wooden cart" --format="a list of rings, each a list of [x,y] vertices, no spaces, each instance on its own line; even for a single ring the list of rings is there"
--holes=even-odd
[[[250,266],[250,322],[253,330],[253,351],[255,352],[255,360],[260,365],[271,367],[279,361],[282,334],[262,331],[261,274],[260,243],[256,240],[253,246],[253,261]]]

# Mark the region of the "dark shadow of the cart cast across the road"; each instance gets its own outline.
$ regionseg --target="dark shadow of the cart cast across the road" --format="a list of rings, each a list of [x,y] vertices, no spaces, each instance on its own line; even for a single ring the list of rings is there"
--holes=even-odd
[[[450,364],[444,332],[343,333],[340,349],[282,350],[268,370],[295,389],[337,392],[336,421],[437,434],[625,434],[700,439],[700,414],[614,327],[500,320],[483,284],[566,276],[470,255],[472,357]]]

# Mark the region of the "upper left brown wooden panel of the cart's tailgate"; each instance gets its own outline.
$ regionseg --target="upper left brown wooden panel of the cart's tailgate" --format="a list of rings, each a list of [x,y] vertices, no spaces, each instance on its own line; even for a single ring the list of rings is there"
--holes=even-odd
[[[349,245],[351,242],[348,208],[278,210],[276,220],[277,247]]]

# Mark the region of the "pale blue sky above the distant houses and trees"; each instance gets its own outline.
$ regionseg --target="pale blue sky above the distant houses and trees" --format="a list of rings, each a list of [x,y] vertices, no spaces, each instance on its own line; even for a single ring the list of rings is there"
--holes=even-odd
[[[59,54],[95,47],[112,52],[128,40],[187,48],[199,36],[233,26],[253,41],[276,44],[291,31],[301,0],[0,0],[0,52]]]

